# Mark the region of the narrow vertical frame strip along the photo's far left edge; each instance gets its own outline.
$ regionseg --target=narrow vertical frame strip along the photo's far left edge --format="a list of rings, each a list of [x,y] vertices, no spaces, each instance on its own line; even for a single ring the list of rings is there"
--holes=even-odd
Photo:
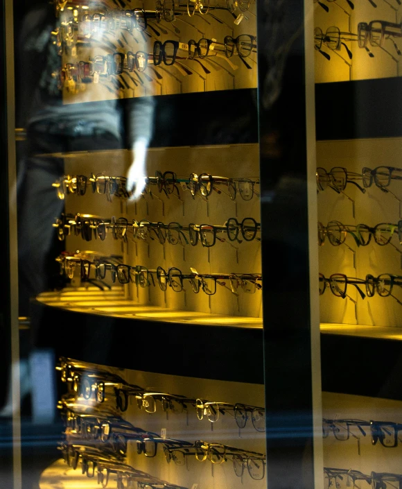
[[[18,254],[17,254],[17,171],[15,157],[15,79],[14,29],[12,1],[0,0],[0,255],[1,274],[1,372],[5,402],[11,393],[12,424],[3,424],[6,453],[1,453],[1,483],[4,487],[21,488],[21,419],[19,399],[19,324],[18,324]],[[9,426],[9,425],[8,425]]]

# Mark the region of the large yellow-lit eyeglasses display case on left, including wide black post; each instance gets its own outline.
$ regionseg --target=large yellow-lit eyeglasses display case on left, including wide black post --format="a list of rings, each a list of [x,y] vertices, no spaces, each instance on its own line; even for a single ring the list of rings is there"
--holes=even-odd
[[[315,8],[5,2],[15,488],[329,487]]]

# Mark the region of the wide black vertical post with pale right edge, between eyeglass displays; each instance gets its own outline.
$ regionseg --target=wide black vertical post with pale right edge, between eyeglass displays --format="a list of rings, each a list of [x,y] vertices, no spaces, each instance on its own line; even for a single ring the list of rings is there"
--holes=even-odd
[[[313,2],[257,2],[267,484],[322,488]],[[310,52],[311,51],[311,52]]]

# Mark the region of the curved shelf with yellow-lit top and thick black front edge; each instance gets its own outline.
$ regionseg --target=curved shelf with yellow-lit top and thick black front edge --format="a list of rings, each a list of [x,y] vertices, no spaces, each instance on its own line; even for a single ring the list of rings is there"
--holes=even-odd
[[[123,289],[94,289],[38,295],[31,309],[35,346],[119,368],[264,383],[261,318],[139,305]]]

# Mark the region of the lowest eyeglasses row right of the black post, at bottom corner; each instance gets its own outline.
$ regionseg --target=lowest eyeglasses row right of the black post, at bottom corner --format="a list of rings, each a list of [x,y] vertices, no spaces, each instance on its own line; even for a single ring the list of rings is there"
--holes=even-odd
[[[368,486],[361,486],[359,481],[366,481]],[[402,488],[402,474],[391,472],[371,472],[363,474],[360,470],[324,467],[324,489],[400,489]]]

